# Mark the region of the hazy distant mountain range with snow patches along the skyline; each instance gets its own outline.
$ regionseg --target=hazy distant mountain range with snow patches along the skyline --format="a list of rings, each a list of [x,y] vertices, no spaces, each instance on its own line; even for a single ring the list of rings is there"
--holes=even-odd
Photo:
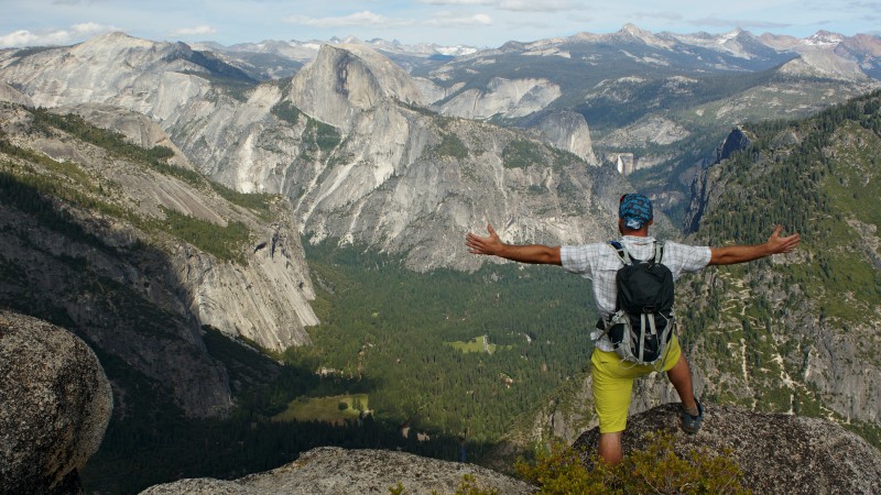
[[[881,65],[878,61],[881,54],[879,36],[857,34],[845,36],[841,34],[819,31],[806,38],[775,35],[764,33],[755,36],[740,29],[722,34],[693,33],[676,34],[663,32],[652,34],[648,31],[628,24],[621,31],[611,34],[578,33],[573,36],[540,40],[534,42],[511,42],[500,48],[479,48],[476,46],[440,46],[433,43],[406,45],[396,41],[374,38],[369,41],[356,37],[331,38],[326,41],[262,41],[259,43],[242,43],[224,46],[214,42],[192,43],[194,50],[222,53],[229,57],[232,65],[252,70],[255,78],[286,77],[293,75],[298,67],[315,58],[322,44],[360,44],[369,46],[406,69],[416,69],[422,66],[442,65],[453,58],[479,58],[491,54],[520,53],[529,56],[558,56],[572,58],[572,53],[566,47],[576,45],[620,45],[631,42],[643,43],[648,47],[660,48],[667,52],[667,56],[654,61],[648,58],[646,63],[663,64],[670,61],[670,55],[679,53],[693,55],[704,59],[705,64],[715,64],[718,68],[746,68],[754,70],[768,62],[781,63],[798,55],[814,51],[828,52],[842,61],[855,63],[860,70],[873,78],[881,75]],[[661,53],[661,52],[659,52]],[[635,55],[635,54],[632,54]],[[274,59],[273,59],[274,57]],[[682,62],[678,59],[677,62]],[[278,64],[275,67],[271,65]],[[678,67],[679,69],[684,67]],[[257,70],[254,70],[257,69]],[[260,69],[264,73],[260,73]],[[272,73],[270,73],[272,70]]]

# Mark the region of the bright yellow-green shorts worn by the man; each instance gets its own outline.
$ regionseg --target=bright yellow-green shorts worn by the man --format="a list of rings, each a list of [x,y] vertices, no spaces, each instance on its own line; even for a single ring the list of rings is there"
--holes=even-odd
[[[676,336],[673,336],[667,345],[663,371],[670,371],[675,366],[681,355],[679,342]],[[661,370],[655,370],[651,364],[628,363],[617,353],[600,351],[597,348],[594,348],[590,363],[594,370],[594,407],[599,416],[599,432],[623,431],[627,428],[627,411],[630,408],[633,378]]]

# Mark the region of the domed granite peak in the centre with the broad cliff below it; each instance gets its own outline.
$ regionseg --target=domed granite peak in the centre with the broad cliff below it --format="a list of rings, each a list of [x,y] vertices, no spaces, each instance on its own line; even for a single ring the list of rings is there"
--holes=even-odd
[[[362,55],[323,48],[292,84],[292,103],[345,133],[328,160],[296,180],[308,185],[298,211],[313,241],[403,252],[411,268],[429,270],[468,266],[458,235],[485,221],[519,241],[574,242],[605,231],[608,213],[592,188],[600,176],[624,187],[620,179],[529,135],[402,105],[421,101],[406,80],[370,89],[404,75]],[[516,162],[520,153],[532,158]]]

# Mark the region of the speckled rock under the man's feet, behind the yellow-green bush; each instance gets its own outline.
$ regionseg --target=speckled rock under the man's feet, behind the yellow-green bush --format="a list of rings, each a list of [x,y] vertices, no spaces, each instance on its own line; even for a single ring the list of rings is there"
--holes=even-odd
[[[624,455],[645,449],[646,433],[673,431],[677,452],[706,448],[721,455],[730,450],[743,471],[743,486],[754,493],[881,493],[881,451],[837,424],[705,404],[700,431],[688,436],[679,430],[678,411],[678,404],[666,404],[631,417]],[[596,452],[598,438],[599,428],[594,428],[575,447]]]

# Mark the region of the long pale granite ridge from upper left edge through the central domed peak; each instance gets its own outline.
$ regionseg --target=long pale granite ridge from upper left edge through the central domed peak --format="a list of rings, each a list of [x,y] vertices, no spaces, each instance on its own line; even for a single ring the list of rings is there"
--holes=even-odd
[[[594,158],[583,119],[545,120],[534,134],[445,118],[423,107],[429,101],[420,84],[360,45],[325,45],[289,86],[243,92],[213,82],[236,73],[197,55],[116,34],[8,59],[0,74],[35,105],[141,112],[198,172],[239,191],[291,197],[312,242],[405,253],[416,270],[474,267],[458,238],[487,221],[505,226],[512,241],[606,237],[611,212],[594,187],[628,187],[586,166]],[[72,61],[76,78],[56,80]],[[90,85],[99,74],[106,80]],[[526,161],[513,158],[523,154]]]

